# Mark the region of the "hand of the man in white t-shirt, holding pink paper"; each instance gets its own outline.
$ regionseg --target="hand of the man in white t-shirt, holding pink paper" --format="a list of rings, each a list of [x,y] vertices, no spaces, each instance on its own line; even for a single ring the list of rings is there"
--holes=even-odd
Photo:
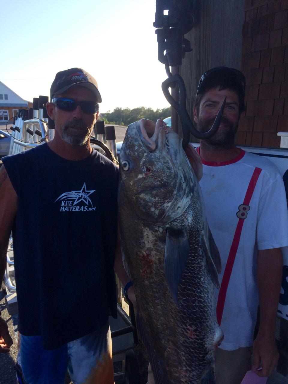
[[[269,377],[277,366],[279,353],[274,334],[260,334],[253,343],[253,367],[262,369],[255,371],[258,376]]]

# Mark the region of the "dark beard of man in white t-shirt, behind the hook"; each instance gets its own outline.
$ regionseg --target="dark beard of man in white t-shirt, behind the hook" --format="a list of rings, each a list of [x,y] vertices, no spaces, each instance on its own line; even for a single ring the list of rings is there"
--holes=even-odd
[[[209,131],[214,121],[215,119],[204,120],[199,118],[197,124],[199,131]],[[236,124],[233,124],[227,118],[222,117],[220,125],[221,124],[225,124],[226,127],[223,129],[218,129],[218,131],[212,137],[210,137],[209,139],[205,139],[204,141],[213,147],[233,147],[235,142],[235,134],[238,128],[238,122]]]

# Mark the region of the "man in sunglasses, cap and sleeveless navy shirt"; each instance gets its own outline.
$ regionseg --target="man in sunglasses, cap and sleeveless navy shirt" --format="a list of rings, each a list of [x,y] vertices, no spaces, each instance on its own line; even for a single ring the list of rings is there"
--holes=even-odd
[[[56,74],[48,115],[55,137],[4,157],[0,170],[0,278],[13,230],[20,332],[28,384],[114,383],[108,315],[117,315],[118,167],[90,146],[101,95],[81,68]],[[114,263],[114,255],[117,252]],[[133,288],[129,284],[133,300]],[[0,319],[1,352],[12,340]]]

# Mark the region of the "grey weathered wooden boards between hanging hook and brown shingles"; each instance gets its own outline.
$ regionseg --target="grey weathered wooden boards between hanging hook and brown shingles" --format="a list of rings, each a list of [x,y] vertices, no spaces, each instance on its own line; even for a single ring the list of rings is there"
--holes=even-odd
[[[190,118],[199,79],[205,71],[216,66],[241,70],[244,0],[201,1],[199,15],[197,26],[185,35],[193,51],[185,54],[180,66]],[[191,135],[190,141],[198,140]]]

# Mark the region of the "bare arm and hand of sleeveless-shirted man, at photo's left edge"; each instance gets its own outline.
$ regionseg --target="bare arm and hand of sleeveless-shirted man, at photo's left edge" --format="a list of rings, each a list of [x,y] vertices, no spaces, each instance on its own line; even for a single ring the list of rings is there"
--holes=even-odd
[[[7,247],[13,221],[17,212],[17,194],[12,187],[5,167],[0,168],[0,281],[2,282],[6,268]],[[13,341],[8,327],[0,317],[0,353],[9,352]]]

